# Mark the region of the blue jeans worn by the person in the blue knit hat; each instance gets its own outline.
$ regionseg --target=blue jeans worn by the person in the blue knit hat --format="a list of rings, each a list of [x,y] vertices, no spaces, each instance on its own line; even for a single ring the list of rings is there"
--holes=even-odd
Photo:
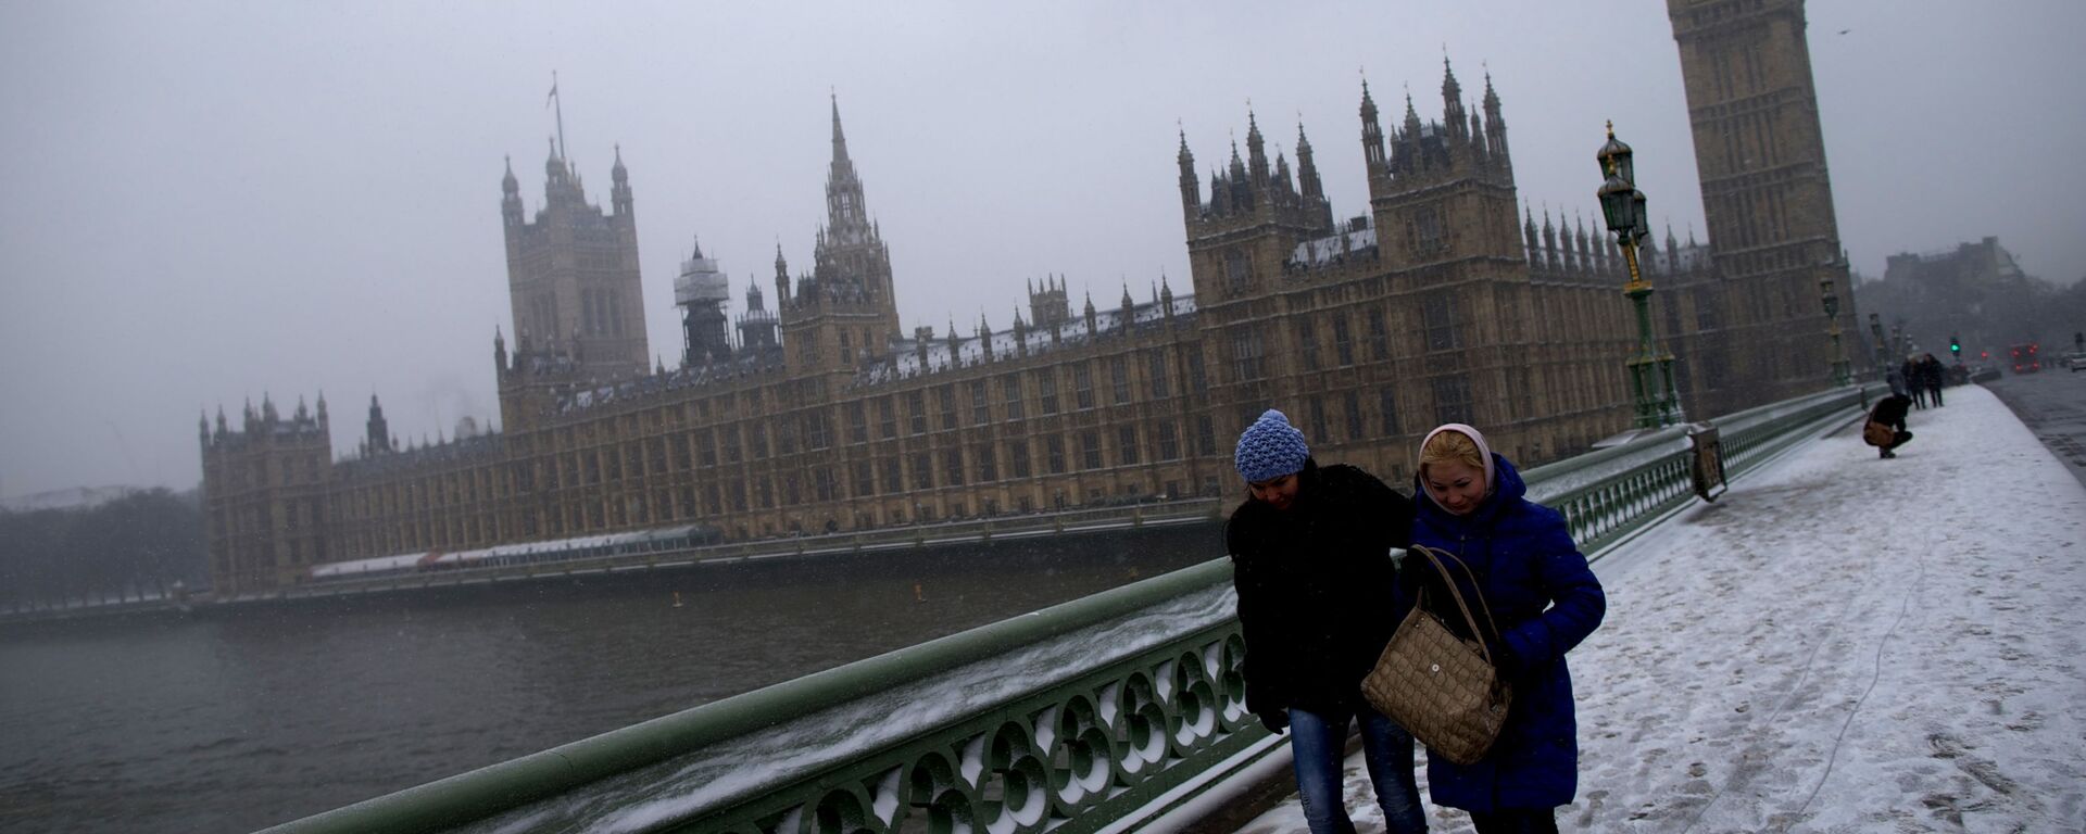
[[[1425,832],[1427,811],[1421,809],[1421,788],[1412,778],[1412,734],[1368,707],[1356,715],[1289,709],[1289,751],[1295,757],[1304,821],[1312,834],[1354,834],[1354,819],[1348,819],[1341,796],[1341,759],[1354,721],[1362,723],[1362,761],[1368,763],[1377,805],[1383,807],[1385,832]]]

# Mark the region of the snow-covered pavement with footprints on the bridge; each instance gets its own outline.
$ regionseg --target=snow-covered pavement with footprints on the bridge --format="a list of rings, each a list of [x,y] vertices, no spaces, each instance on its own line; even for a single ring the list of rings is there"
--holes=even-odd
[[[1798,444],[1598,555],[1560,830],[2086,832],[2086,486],[1982,388],[1909,427],[1894,461],[1857,425]],[[1348,807],[1383,830],[1360,757]]]

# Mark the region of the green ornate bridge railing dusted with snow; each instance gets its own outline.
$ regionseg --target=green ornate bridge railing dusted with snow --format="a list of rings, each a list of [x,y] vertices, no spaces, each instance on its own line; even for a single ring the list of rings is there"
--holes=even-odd
[[[1861,411],[1717,419],[1725,473]],[[1683,427],[1527,473],[1596,553],[1692,496]],[[1281,751],[1245,713],[1224,559],[269,832],[1120,832]]]

